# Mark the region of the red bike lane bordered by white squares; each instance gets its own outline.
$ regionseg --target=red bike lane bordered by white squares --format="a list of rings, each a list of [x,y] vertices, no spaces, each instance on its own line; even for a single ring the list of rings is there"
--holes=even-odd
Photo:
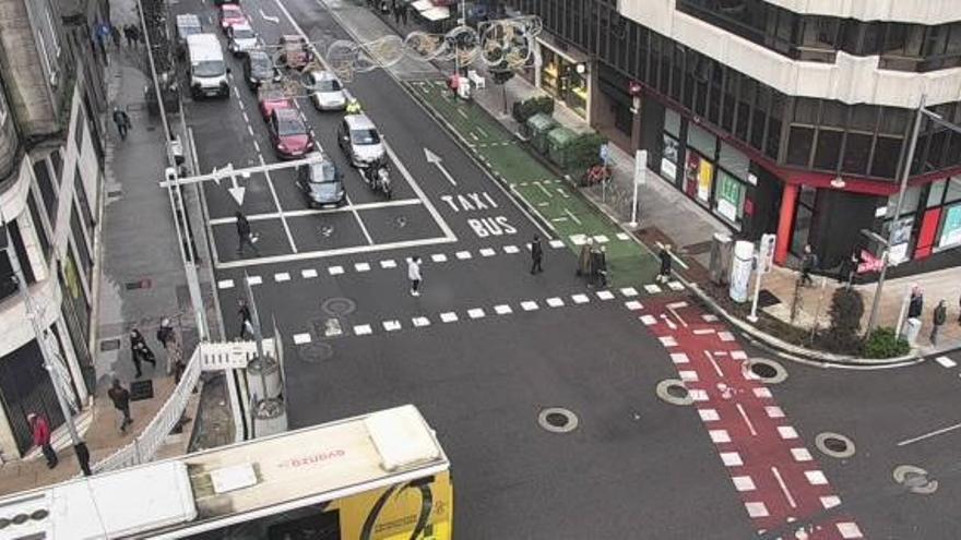
[[[633,313],[669,352],[759,535],[864,538],[832,509],[841,499],[724,324],[679,299],[652,299]]]

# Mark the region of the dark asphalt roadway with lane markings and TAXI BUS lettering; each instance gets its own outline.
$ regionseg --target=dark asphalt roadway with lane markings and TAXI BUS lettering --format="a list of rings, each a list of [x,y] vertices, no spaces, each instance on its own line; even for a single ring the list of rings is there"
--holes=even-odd
[[[244,2],[265,43],[296,33],[290,19],[312,40],[348,38],[317,0],[283,5],[287,13],[277,0]],[[173,10],[214,14],[200,0]],[[203,172],[276,161],[256,97],[232,64],[229,99],[187,105]],[[961,430],[898,446],[959,421],[958,369],[946,376],[939,364],[869,373],[792,364],[773,394],[758,391],[764,382],[739,370],[743,347],[723,325],[693,302],[668,309],[687,301],[683,293],[589,288],[574,276],[573,254],[549,237],[545,272],[531,275],[527,242],[542,227],[389,73],[357,74],[349,89],[392,151],[391,203],[335,147],[340,113],[306,99],[298,106],[345,171],[349,205],[308,211],[292,171],[240,179],[240,207],[229,182],[204,185],[227,334],[238,332],[236,302],[249,276],[261,320],[276,321],[289,351],[292,427],[417,405],[451,458],[462,539],[774,538],[796,523],[811,524],[808,538],[961,535],[951,507],[957,453],[944,444],[957,446]],[[258,255],[236,254],[237,209],[260,233]],[[424,259],[417,298],[405,268],[414,254]],[[678,363],[681,351],[690,368]],[[697,399],[659,398],[665,380]],[[784,416],[771,409],[779,406]],[[578,428],[542,429],[546,407],[570,409]],[[724,429],[712,427],[714,415]],[[785,435],[790,427],[797,436]],[[814,436],[824,430],[852,436],[854,457],[819,454]],[[934,495],[906,494],[891,480],[901,461],[945,480]]]

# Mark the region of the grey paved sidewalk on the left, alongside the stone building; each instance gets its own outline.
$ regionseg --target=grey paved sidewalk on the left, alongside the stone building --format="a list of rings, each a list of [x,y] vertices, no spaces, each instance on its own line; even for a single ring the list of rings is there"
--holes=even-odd
[[[111,3],[115,25],[139,24],[133,0]],[[167,374],[167,355],[154,337],[161,320],[170,317],[185,356],[189,356],[198,343],[170,203],[166,191],[157,187],[157,180],[163,177],[166,167],[164,130],[161,119],[151,118],[144,104],[143,88],[149,84],[150,75],[143,71],[143,47],[108,49],[109,107],[116,105],[126,108],[132,129],[127,140],[121,141],[108,112],[106,181],[99,219],[99,293],[95,299],[93,315],[97,327],[96,349],[92,351],[97,385],[93,404],[76,418],[78,431],[91,453],[91,464],[130,443],[157,413],[176,386],[174,377]],[[209,289],[209,284],[205,289]],[[128,388],[134,380],[128,339],[128,333],[134,326],[156,355],[157,367],[143,365],[144,376],[139,381],[151,382],[153,396],[131,401],[134,423],[127,433],[120,433],[118,412],[106,392],[114,377]],[[191,397],[186,412],[188,419],[197,418],[200,400],[201,393]],[[157,457],[186,453],[191,443],[193,423],[189,421],[182,433],[168,435]],[[229,428],[217,425],[211,427],[211,430],[221,433]],[[47,469],[36,448],[23,460],[0,466],[0,494],[55,483],[79,475],[76,458],[64,428],[55,432],[54,444],[60,457],[60,465],[55,469]]]

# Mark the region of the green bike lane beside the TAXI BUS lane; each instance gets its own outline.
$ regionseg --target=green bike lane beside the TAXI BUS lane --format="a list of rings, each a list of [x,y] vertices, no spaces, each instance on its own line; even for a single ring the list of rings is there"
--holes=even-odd
[[[654,281],[654,254],[633,241],[571,183],[530,154],[525,145],[473,101],[454,101],[444,81],[412,81],[410,92],[453,131],[491,175],[536,213],[558,239],[580,251],[586,238],[607,250],[610,283],[617,287]]]

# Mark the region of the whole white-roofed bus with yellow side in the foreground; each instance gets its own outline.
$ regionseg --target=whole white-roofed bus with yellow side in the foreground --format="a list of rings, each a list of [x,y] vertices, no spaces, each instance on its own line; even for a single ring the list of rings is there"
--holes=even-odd
[[[412,405],[0,500],[0,540],[450,540],[453,485]]]

